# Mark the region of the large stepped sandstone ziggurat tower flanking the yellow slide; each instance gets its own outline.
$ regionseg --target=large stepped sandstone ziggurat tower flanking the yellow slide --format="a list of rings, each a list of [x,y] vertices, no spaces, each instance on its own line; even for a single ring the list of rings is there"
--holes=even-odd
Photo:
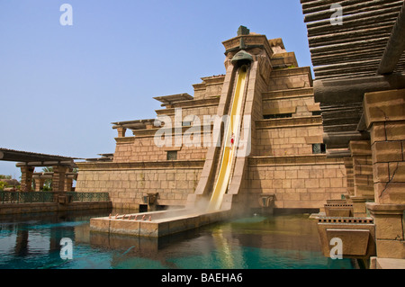
[[[327,200],[340,199],[347,193],[345,163],[326,155],[311,68],[299,67],[283,40],[267,40],[243,26],[237,37],[223,45],[225,75],[202,77],[202,83],[193,85],[193,96],[155,98],[162,103],[157,118],[166,116],[175,122],[181,112],[182,127],[167,127],[172,134],[169,141],[174,143],[178,136],[184,139],[191,129],[193,139],[197,134],[200,139],[211,139],[213,123],[202,119],[228,114],[229,85],[235,76],[231,60],[244,51],[252,61],[242,121],[248,118],[251,122],[247,134],[240,137],[248,138],[251,148],[232,168],[221,209],[319,210]],[[112,124],[118,132],[114,154],[76,163],[77,192],[107,192],[114,208],[143,211],[192,207],[209,200],[223,145],[210,147],[202,142],[190,146],[182,142],[158,147],[155,137],[162,127],[157,127],[155,120]],[[129,131],[131,135],[127,135]]]

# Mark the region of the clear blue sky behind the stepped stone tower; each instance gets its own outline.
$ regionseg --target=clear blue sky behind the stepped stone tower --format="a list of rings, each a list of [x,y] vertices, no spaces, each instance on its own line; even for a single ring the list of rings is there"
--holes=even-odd
[[[73,25],[62,26],[62,4]],[[112,121],[153,119],[154,96],[225,73],[238,26],[283,38],[311,66],[300,0],[1,0],[0,147],[67,157],[112,153]],[[20,171],[0,161],[0,175]]]

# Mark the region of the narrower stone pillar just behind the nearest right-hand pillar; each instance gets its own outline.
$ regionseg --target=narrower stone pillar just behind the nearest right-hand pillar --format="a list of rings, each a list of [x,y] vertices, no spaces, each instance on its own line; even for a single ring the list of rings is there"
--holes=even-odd
[[[365,202],[374,201],[372,152],[369,140],[350,141],[353,159],[354,196],[351,196],[355,217],[367,216]]]

